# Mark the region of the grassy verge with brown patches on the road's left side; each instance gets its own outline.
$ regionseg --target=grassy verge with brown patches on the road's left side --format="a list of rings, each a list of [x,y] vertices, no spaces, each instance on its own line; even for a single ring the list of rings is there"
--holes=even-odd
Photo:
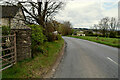
[[[39,55],[33,59],[18,62],[11,68],[2,72],[2,78],[42,78],[54,64],[64,44],[64,40],[46,42],[44,48],[47,49],[46,55]]]

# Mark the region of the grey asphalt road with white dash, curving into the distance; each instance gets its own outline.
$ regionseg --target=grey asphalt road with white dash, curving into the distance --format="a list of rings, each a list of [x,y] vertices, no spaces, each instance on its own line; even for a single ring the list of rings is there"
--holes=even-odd
[[[54,78],[118,78],[118,48],[63,38],[67,47]]]

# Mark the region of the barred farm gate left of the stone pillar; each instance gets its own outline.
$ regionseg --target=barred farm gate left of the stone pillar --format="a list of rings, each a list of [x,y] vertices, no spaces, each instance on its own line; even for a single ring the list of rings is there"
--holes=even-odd
[[[0,36],[0,71],[16,63],[16,34]]]

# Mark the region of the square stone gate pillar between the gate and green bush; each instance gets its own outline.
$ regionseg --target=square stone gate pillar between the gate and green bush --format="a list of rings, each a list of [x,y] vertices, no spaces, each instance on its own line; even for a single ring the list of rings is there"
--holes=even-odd
[[[17,61],[31,58],[31,29],[12,29],[16,33]]]

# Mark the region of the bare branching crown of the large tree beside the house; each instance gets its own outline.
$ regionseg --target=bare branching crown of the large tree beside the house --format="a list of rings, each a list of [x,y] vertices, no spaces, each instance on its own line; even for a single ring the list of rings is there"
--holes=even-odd
[[[37,0],[33,1],[19,1],[15,0],[17,4],[12,2],[6,2],[10,5],[20,6],[25,14],[25,19],[23,19],[27,24],[37,23],[42,25],[43,28],[46,27],[46,22],[50,17],[55,15],[62,7],[64,3],[61,1],[53,0]]]

